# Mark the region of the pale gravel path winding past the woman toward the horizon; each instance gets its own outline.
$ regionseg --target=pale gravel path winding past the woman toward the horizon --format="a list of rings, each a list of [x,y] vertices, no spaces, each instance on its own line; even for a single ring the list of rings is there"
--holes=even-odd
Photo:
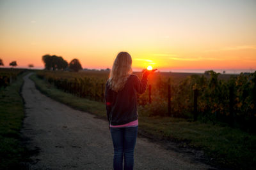
[[[30,169],[112,169],[108,123],[44,96],[29,75],[22,87],[26,103],[22,136],[29,139],[29,149],[38,149]],[[214,169],[145,138],[138,138],[134,154],[134,169]]]

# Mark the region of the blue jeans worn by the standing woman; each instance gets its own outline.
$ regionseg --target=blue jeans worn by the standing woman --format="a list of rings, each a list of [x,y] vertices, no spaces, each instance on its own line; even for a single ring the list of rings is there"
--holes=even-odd
[[[114,170],[133,169],[134,164],[134,147],[136,144],[138,126],[136,127],[111,127],[110,128],[113,146],[114,146]]]

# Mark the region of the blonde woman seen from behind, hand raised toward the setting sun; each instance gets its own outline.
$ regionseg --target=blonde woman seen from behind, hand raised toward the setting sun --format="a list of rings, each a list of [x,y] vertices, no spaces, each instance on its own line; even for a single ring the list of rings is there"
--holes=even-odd
[[[127,52],[116,56],[106,83],[105,99],[109,128],[114,146],[114,169],[133,169],[134,147],[138,133],[138,113],[136,93],[142,94],[147,89],[148,74],[142,79],[132,74],[132,58]]]

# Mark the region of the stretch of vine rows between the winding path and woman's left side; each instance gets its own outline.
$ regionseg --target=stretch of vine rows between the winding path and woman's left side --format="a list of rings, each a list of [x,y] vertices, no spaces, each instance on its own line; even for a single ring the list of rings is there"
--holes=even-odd
[[[104,88],[108,80],[108,73],[105,71],[86,73],[39,71],[37,76],[75,96],[104,101]]]

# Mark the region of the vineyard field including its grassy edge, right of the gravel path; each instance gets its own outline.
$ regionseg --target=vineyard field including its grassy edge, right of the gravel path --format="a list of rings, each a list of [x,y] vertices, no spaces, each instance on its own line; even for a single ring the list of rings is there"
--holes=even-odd
[[[102,118],[106,117],[102,101],[104,101],[104,83],[108,79],[108,72],[38,71],[37,74],[38,76],[34,75],[31,78],[35,81],[37,88],[47,96],[76,109],[88,111]],[[141,73],[136,74],[141,76]],[[234,101],[235,104],[232,105],[234,106],[233,111],[236,113],[234,117],[231,117],[233,122],[230,122],[230,116],[228,115],[230,111],[230,100],[228,100],[230,83],[234,85],[234,95],[236,95],[234,99],[237,100],[237,95],[239,96],[239,92],[241,92],[239,91],[241,90],[239,82],[244,83],[243,85],[248,83],[247,87],[251,89],[247,88],[246,90],[253,90],[253,76],[255,75],[221,75],[219,79],[218,74],[211,71],[204,75],[155,74],[148,81],[148,84],[152,85],[152,102],[148,103],[148,91],[142,96],[138,96],[140,134],[154,140],[157,139],[157,141],[175,141],[182,148],[189,147],[204,150],[209,157],[207,161],[221,167],[235,169],[254,167],[256,137],[252,127],[250,127],[252,124],[244,125],[243,122],[248,120],[247,118],[251,115],[238,115],[243,111],[241,110],[243,107],[236,106],[237,102],[239,103],[239,100],[243,98]],[[170,81],[168,81],[169,78],[171,78]],[[168,99],[166,96],[168,84],[172,85],[172,115],[168,115]],[[88,88],[90,90],[87,90]],[[198,121],[193,122],[193,92],[195,89],[201,90],[201,92],[198,96]],[[222,94],[221,92],[225,93]],[[250,108],[254,99],[252,94],[250,91],[248,92],[248,96],[252,97],[249,99],[246,98],[248,96],[242,95],[247,100],[246,102],[250,103]],[[225,101],[221,99],[221,96]],[[228,105],[221,105],[223,102],[228,103]],[[208,104],[208,106],[201,108],[204,104]],[[220,106],[225,106],[225,109],[214,110]],[[237,111],[240,112],[237,113]],[[251,113],[250,111],[247,108],[246,114]],[[239,118],[244,118],[244,120],[238,122],[237,119]]]

